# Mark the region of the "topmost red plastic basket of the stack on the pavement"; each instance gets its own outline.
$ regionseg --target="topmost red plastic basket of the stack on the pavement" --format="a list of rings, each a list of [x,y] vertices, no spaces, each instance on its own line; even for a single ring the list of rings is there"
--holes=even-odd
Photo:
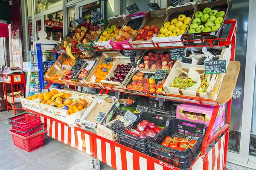
[[[8,120],[12,123],[12,125],[16,125],[18,127],[29,127],[40,122],[41,118],[40,116],[34,116],[29,113],[24,113],[21,115],[11,117]]]

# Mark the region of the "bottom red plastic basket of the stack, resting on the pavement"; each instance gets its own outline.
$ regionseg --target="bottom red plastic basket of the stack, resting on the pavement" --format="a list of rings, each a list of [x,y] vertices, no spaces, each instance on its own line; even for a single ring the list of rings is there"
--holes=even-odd
[[[44,146],[44,134],[46,133],[46,130],[26,137],[16,134],[12,130],[9,130],[9,133],[12,135],[14,145],[27,152],[31,152]]]

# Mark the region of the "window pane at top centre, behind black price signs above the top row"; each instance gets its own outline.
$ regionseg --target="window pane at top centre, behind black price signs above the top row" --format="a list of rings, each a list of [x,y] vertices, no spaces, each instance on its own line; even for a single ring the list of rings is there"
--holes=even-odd
[[[137,6],[140,8],[140,11],[138,12],[144,12],[144,11],[150,10],[148,6],[148,3],[150,3],[150,0],[120,0],[121,14],[129,14],[129,12],[126,10],[126,7],[134,3],[136,3]]]

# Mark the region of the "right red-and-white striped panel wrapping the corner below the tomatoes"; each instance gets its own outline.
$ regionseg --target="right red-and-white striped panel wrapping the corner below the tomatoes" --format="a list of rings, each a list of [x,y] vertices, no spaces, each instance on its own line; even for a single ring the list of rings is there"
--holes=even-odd
[[[94,140],[94,157],[100,161],[108,164],[116,170],[175,170],[178,168],[166,164],[149,156],[139,156],[136,153],[131,153],[128,150],[116,147],[113,144],[102,141],[100,139]],[[218,151],[216,151],[218,150]],[[197,161],[192,164],[190,170],[221,170],[223,167],[224,157],[224,136],[212,147],[208,156],[199,157]],[[213,159],[214,158],[214,159]],[[209,168],[207,168],[209,167]]]

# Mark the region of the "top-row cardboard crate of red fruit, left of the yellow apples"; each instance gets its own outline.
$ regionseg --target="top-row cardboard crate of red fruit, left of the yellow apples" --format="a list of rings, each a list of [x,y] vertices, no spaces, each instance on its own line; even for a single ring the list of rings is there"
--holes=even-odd
[[[143,29],[144,26],[148,25],[149,27],[151,26],[157,26],[157,28],[161,28],[164,24],[164,22],[167,20],[166,18],[168,17],[168,12],[166,11],[166,8],[163,8],[161,10],[150,10],[147,11],[147,13],[144,15],[145,20],[143,21],[142,25],[140,26],[140,29]],[[160,32],[160,31],[159,31]],[[154,44],[146,44],[152,42],[153,35],[157,36],[158,34],[153,34],[152,37],[149,40],[136,40],[135,36],[132,36],[131,39],[129,40],[129,43],[131,44],[132,48],[148,48],[148,47],[155,47]],[[137,43],[143,43],[140,45],[132,45],[132,44],[137,44]]]

